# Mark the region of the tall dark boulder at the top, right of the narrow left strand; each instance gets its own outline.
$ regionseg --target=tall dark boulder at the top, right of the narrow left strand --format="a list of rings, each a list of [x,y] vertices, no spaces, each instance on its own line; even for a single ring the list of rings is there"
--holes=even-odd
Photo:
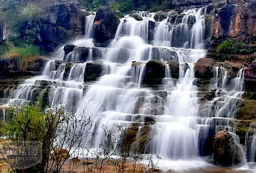
[[[111,11],[110,7],[101,7],[96,13],[93,23],[93,38],[99,47],[106,47],[107,41],[115,37],[119,25],[119,17]]]

